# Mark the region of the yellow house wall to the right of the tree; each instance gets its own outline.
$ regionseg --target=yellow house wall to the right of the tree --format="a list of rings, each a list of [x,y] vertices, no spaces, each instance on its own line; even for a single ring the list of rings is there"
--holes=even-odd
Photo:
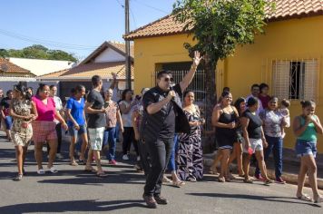
[[[318,117],[323,121],[323,16],[292,19],[269,23],[266,34],[259,35],[255,44],[237,49],[226,59],[224,85],[230,87],[234,97],[250,93],[252,83],[271,84],[272,60],[318,59]],[[320,102],[319,102],[320,101]],[[299,101],[292,102],[291,119],[301,112]],[[323,139],[318,139],[318,151],[323,151]],[[285,147],[293,148],[295,138],[291,128],[287,131]]]

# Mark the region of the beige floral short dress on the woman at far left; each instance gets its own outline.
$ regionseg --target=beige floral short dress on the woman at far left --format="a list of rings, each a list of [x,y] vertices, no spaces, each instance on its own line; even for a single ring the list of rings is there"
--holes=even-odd
[[[21,116],[28,116],[31,113],[32,105],[28,100],[13,100],[14,112]],[[24,119],[15,118],[11,136],[15,146],[27,146],[33,137],[32,124],[28,123],[26,127],[23,126]]]

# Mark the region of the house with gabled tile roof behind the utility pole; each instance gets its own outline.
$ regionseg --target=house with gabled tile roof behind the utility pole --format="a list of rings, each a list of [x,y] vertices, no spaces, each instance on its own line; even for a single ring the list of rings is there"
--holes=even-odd
[[[131,46],[131,62],[133,82],[133,46]],[[103,89],[107,89],[113,79],[113,73],[118,76],[119,89],[124,90],[126,87],[125,44],[104,42],[77,66],[48,73],[37,79],[58,82],[60,96],[69,97],[71,89],[77,84],[83,84],[86,89],[91,89],[93,75],[100,75],[103,78]]]

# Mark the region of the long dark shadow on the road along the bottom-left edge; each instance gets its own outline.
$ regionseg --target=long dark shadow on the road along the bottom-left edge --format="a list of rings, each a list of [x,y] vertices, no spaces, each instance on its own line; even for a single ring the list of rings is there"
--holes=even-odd
[[[113,211],[117,209],[146,208],[142,200],[71,200],[55,201],[42,203],[24,203],[8,205],[0,208],[2,214],[22,214],[22,213],[63,213],[63,212],[95,212],[95,211]]]

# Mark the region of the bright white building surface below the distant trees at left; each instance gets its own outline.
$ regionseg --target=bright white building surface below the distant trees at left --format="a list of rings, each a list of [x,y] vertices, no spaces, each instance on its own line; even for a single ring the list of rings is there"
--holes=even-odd
[[[8,58],[11,63],[29,70],[37,76],[54,73],[64,69],[72,68],[73,63],[60,60],[38,60],[24,58]]]

